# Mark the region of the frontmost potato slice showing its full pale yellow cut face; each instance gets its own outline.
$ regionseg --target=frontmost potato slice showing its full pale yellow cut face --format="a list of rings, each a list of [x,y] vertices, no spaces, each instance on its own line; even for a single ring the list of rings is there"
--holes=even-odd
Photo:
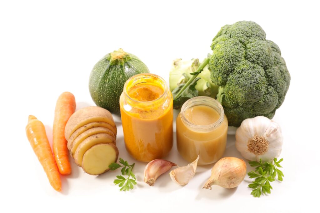
[[[91,175],[100,175],[109,170],[109,165],[118,160],[118,148],[113,143],[99,143],[89,148],[83,156],[82,168]]]

